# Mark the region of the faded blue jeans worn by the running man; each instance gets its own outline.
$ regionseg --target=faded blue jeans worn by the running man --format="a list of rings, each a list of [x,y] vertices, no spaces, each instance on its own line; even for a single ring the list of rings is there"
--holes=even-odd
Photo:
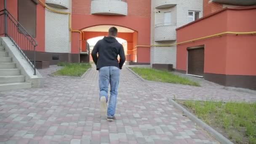
[[[115,108],[117,103],[117,91],[120,78],[120,69],[118,67],[101,67],[99,69],[99,96],[105,96],[108,101],[108,87],[110,83],[110,99],[107,109],[107,116],[115,116]]]

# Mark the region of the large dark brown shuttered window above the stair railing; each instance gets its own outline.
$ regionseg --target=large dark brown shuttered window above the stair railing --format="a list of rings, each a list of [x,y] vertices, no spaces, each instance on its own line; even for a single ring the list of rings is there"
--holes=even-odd
[[[18,0],[18,21],[32,37],[36,37],[36,10],[35,0]]]

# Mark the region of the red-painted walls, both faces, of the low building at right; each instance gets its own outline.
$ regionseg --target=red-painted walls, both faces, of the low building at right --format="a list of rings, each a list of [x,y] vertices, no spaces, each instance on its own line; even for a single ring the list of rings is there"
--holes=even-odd
[[[255,31],[256,8],[227,9],[194,24],[177,29],[179,42],[221,32]],[[216,24],[218,21],[218,24]],[[256,35],[223,35],[177,46],[177,69],[187,70],[187,48],[205,45],[205,73],[256,75]]]

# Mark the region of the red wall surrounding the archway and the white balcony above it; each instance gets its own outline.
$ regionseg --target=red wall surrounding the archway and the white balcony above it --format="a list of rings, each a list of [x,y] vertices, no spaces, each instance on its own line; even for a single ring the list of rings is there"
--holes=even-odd
[[[138,32],[138,45],[150,45],[150,11],[151,3],[149,0],[127,0],[128,16],[107,16],[107,15],[91,15],[91,0],[73,0],[72,1],[72,29],[85,29],[96,25],[116,25],[127,27]],[[73,33],[72,36],[79,35]],[[75,49],[79,47],[77,43],[73,43],[75,38],[72,37],[72,53],[78,53]],[[150,49],[142,50],[139,55],[149,54],[149,56],[141,56],[140,61],[150,61]],[[139,57],[139,56],[138,56]]]

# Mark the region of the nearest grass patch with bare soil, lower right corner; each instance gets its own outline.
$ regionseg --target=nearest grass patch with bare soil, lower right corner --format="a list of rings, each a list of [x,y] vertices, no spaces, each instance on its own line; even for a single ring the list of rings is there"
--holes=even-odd
[[[256,144],[256,103],[178,101],[235,144]]]

